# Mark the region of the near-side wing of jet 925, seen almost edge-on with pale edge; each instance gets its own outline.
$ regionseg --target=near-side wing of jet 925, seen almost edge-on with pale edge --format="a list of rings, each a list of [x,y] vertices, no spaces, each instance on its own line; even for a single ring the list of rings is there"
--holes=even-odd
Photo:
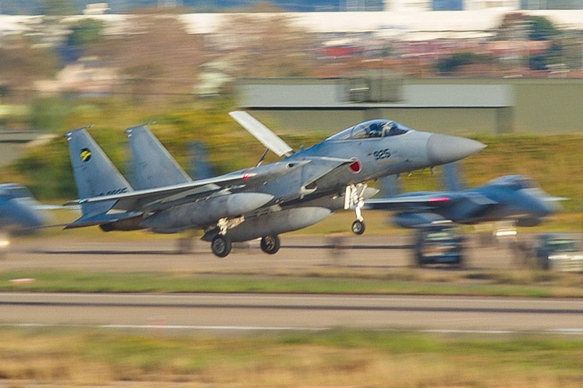
[[[245,185],[248,180],[253,179],[257,173],[230,173],[215,178],[194,180],[189,183],[153,188],[148,190],[136,190],[130,193],[119,193],[112,195],[101,195],[92,198],[81,198],[71,200],[65,205],[84,205],[87,203],[106,203],[113,201],[110,210],[161,210],[176,203],[178,200],[208,195],[215,191],[223,190],[233,185]],[[166,206],[164,204],[167,204]]]

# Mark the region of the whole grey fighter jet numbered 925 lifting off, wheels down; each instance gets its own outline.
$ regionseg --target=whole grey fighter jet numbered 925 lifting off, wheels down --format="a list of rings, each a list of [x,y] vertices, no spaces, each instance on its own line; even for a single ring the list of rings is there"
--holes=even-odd
[[[280,233],[308,227],[335,210],[355,209],[353,231],[365,225],[360,212],[377,190],[367,180],[450,163],[482,150],[467,138],[414,131],[390,120],[350,126],[315,146],[294,152],[253,116],[230,116],[267,148],[255,167],[192,180],[146,126],[128,128],[133,188],[86,128],[66,134],[83,215],[66,228],[149,229],[177,233],[202,229],[218,257],[232,242],[261,239],[273,254]],[[263,164],[268,150],[282,158]]]

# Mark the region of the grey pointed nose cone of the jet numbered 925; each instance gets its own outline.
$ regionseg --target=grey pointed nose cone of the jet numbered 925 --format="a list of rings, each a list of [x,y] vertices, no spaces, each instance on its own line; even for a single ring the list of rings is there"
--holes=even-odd
[[[427,139],[427,155],[432,165],[455,162],[486,148],[484,143],[458,136],[433,133]]]

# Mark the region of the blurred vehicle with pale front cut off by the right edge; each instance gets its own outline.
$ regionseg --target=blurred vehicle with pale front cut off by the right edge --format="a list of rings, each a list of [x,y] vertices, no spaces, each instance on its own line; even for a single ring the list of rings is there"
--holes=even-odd
[[[583,271],[583,252],[574,235],[568,233],[538,235],[534,253],[537,265],[545,270]]]

